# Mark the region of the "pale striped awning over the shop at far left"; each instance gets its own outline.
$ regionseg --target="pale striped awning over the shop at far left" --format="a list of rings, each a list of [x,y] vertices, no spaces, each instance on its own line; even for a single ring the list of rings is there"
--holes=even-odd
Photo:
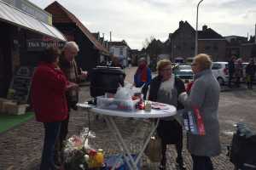
[[[54,26],[49,26],[32,15],[26,14],[20,9],[15,8],[8,3],[3,3],[2,1],[0,1],[0,20],[11,25],[20,26],[26,30],[38,32],[39,34],[67,42],[66,37],[64,37],[61,31],[58,31]]]

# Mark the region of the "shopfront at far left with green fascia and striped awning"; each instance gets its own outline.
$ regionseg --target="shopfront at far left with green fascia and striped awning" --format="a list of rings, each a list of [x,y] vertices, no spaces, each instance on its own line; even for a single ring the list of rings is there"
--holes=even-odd
[[[31,63],[30,65],[36,66],[40,49],[49,44],[63,46],[63,43],[67,42],[61,31],[42,20],[49,21],[49,17],[51,18],[50,14],[42,12],[43,9],[33,8],[32,3],[24,0],[7,2],[0,1],[0,97],[3,98],[7,96],[16,65]],[[23,8],[25,8],[24,4],[26,8],[30,7],[30,11],[33,9],[33,13],[41,19],[15,7],[21,4]],[[47,17],[46,15],[43,17],[43,14]],[[26,39],[26,43],[20,41],[20,38]],[[26,55],[28,53],[34,58],[28,57]]]

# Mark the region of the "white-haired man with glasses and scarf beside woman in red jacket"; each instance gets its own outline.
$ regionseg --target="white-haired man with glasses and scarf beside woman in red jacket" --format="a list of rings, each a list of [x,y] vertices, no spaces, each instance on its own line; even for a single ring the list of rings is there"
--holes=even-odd
[[[67,42],[61,51],[59,67],[67,77],[67,84],[84,82],[87,77],[86,71],[81,71],[81,75],[78,73],[77,63],[75,56],[79,53],[79,46],[76,42]],[[78,111],[77,103],[79,101],[78,88],[70,88],[66,92],[67,98],[67,118],[61,122],[61,130],[59,139],[55,145],[55,164],[61,163],[60,152],[63,148],[63,141],[67,138],[69,111]]]

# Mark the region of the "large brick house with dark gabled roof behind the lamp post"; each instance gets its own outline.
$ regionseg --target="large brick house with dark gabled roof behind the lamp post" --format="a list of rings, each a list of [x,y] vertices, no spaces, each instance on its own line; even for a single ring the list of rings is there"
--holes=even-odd
[[[188,21],[179,22],[179,27],[169,34],[171,41],[172,62],[190,64],[195,56],[195,29]],[[226,60],[226,40],[207,26],[198,31],[198,54],[205,53],[212,57],[212,61]]]

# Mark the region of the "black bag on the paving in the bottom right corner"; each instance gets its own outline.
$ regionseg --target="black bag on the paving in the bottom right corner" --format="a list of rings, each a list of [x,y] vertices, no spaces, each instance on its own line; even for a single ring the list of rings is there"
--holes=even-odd
[[[247,139],[245,135],[234,133],[230,161],[242,170],[256,170],[256,136]]]

